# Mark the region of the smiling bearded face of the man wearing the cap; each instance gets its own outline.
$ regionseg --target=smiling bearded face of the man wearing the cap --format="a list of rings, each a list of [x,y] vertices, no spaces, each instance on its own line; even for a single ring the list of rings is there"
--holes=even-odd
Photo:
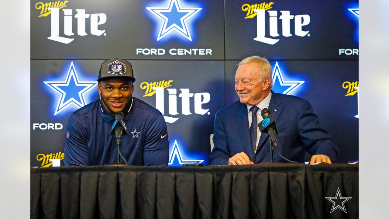
[[[132,81],[122,78],[110,78],[100,81],[97,88],[105,109],[112,116],[119,112],[127,113],[134,92]]]

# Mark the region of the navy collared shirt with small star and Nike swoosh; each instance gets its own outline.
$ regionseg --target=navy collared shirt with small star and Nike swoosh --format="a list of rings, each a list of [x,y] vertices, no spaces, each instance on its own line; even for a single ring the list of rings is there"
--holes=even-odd
[[[104,165],[117,162],[114,135],[109,135],[114,117],[96,100],[77,109],[68,119],[65,132],[65,165]],[[128,135],[123,135],[120,152],[128,164],[168,165],[169,141],[161,112],[132,97],[125,113]],[[124,162],[121,158],[121,162]]]

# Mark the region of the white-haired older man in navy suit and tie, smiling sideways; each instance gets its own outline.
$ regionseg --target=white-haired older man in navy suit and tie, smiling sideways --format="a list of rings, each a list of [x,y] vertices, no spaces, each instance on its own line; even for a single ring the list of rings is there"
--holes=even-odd
[[[252,56],[238,64],[235,90],[240,101],[217,111],[211,165],[254,164],[270,161],[269,134],[258,130],[261,110],[268,108],[277,124],[282,156],[304,162],[305,152],[315,162],[336,162],[338,148],[319,123],[310,103],[300,97],[274,93],[272,67],[265,58]],[[273,161],[284,162],[274,153]]]

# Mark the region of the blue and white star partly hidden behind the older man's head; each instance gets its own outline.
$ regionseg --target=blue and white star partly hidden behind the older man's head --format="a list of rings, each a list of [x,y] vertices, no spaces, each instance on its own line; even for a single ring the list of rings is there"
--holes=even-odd
[[[300,87],[305,81],[286,81],[284,77],[282,76],[282,72],[280,69],[280,66],[278,65],[278,62],[275,62],[275,66],[273,67],[273,74],[272,74],[272,79],[273,79],[273,90],[275,92],[282,92],[283,94],[290,94],[296,88]],[[278,79],[278,82],[276,84],[276,81]],[[280,87],[278,87],[280,86]],[[284,86],[284,87],[283,87]],[[281,88],[283,87],[283,88]],[[286,88],[286,90],[284,90]]]

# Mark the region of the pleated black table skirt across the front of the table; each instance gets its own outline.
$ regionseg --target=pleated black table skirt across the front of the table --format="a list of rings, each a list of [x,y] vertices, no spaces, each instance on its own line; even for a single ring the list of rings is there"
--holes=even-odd
[[[336,209],[325,197],[337,189]],[[31,218],[357,218],[358,165],[31,169]]]

